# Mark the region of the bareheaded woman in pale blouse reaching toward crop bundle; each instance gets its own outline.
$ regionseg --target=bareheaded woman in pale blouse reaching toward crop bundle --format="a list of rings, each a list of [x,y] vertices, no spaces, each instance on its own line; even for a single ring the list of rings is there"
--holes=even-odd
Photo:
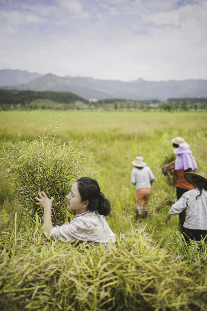
[[[70,224],[52,225],[51,208],[53,197],[49,199],[42,191],[36,204],[44,209],[43,227],[53,238],[57,236],[70,243],[77,241],[93,242],[95,246],[104,244],[115,244],[116,237],[111,231],[104,216],[110,213],[110,202],[100,192],[96,180],[89,177],[78,179],[67,195],[67,204],[70,210],[76,211],[76,215]]]

